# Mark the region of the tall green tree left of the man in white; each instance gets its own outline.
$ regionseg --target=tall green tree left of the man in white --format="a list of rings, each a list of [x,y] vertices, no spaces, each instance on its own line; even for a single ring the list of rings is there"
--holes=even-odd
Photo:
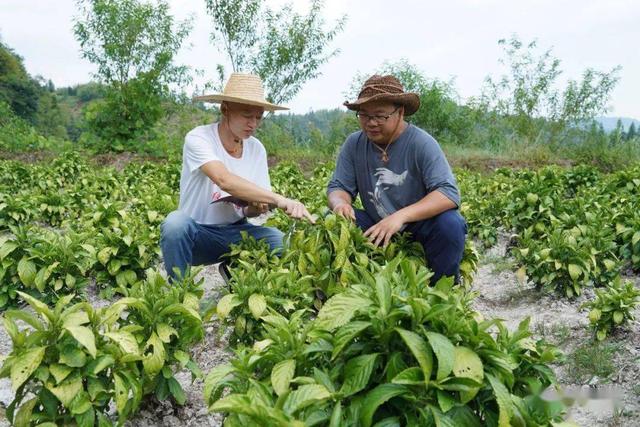
[[[165,0],[78,0],[74,32],[82,56],[97,66],[104,99],[88,109],[89,128],[104,140],[131,141],[162,117],[171,85],[187,78],[173,59],[190,31]]]

